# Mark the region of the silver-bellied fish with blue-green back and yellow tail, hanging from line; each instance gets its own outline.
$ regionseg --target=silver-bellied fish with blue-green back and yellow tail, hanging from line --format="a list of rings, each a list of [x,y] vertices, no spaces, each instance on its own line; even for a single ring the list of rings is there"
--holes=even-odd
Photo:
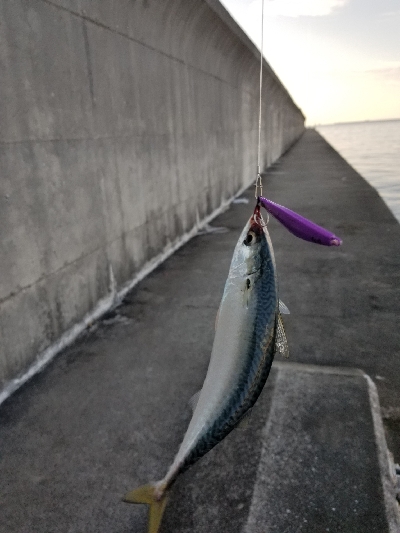
[[[276,353],[288,355],[278,297],[274,251],[260,203],[236,244],[217,314],[203,387],[192,400],[189,427],[166,475],[125,495],[149,508],[148,533],[157,533],[168,493],[180,474],[197,462],[251,411]]]

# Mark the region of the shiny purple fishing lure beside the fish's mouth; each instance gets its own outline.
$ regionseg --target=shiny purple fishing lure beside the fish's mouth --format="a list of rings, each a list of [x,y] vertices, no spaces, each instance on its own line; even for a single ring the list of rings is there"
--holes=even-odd
[[[271,202],[271,200],[262,196],[259,197],[259,201],[268,213],[271,213],[272,216],[279,220],[296,237],[324,246],[340,246],[342,244],[342,240],[336,237],[334,233],[298,215],[287,207]]]

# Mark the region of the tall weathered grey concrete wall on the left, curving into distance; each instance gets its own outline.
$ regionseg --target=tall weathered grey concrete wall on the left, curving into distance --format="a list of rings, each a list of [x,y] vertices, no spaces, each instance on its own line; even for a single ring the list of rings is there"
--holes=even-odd
[[[254,180],[258,68],[214,0],[0,3],[0,389]],[[264,70],[265,166],[304,117]]]

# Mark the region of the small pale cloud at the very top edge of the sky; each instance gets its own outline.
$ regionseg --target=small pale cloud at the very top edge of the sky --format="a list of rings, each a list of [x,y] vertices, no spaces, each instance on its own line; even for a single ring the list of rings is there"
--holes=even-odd
[[[349,0],[265,0],[270,15],[284,17],[323,17],[343,7]]]

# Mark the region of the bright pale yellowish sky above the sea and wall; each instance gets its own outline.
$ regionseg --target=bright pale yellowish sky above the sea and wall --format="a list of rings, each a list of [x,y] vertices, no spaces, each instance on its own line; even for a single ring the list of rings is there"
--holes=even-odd
[[[260,48],[262,0],[220,0]],[[307,125],[400,118],[400,0],[264,0],[264,57]]]

